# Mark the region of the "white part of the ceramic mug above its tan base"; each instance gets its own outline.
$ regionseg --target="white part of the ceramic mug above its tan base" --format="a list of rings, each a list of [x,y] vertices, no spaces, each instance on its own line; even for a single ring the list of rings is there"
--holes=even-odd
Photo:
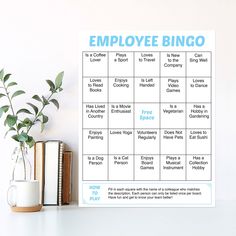
[[[11,207],[33,207],[39,205],[38,180],[14,180],[8,188],[7,201]]]

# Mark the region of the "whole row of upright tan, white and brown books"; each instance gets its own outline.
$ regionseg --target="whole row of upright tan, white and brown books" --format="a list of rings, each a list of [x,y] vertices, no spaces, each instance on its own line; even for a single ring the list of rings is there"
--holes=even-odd
[[[61,206],[71,202],[72,152],[57,140],[34,145],[34,179],[40,185],[40,203]]]

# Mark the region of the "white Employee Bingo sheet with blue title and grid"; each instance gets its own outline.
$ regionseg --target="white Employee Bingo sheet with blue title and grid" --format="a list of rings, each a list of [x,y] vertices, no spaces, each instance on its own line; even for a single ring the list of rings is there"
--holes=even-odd
[[[214,32],[79,44],[79,206],[214,206]]]

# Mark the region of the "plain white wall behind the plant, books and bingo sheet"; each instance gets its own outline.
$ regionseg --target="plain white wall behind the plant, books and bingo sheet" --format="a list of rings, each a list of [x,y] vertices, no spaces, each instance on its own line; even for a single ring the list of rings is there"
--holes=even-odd
[[[46,132],[33,133],[37,139],[64,140],[74,151],[74,199],[81,30],[180,29],[216,32],[216,199],[236,200],[235,12],[235,0],[0,0],[0,68],[30,95],[47,94],[44,80],[65,71],[60,110],[51,107]],[[14,143],[3,138],[0,122],[0,194],[5,195]]]

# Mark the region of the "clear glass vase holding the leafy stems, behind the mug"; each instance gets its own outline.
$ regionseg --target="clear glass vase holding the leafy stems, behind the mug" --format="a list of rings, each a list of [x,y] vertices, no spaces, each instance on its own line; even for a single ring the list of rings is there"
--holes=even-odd
[[[25,143],[19,143],[12,154],[11,180],[31,180],[32,166],[28,159],[28,148]]]

